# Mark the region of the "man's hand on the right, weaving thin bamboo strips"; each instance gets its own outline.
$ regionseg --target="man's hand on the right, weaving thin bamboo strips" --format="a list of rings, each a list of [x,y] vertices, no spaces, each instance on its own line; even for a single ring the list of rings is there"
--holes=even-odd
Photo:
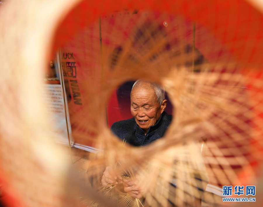
[[[140,199],[143,196],[138,179],[136,178],[125,179],[123,180],[123,185],[124,185],[124,191],[128,193],[131,197]]]

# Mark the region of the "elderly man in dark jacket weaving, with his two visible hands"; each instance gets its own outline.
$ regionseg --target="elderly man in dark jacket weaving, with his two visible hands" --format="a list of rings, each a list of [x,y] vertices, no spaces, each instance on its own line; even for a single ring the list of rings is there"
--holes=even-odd
[[[111,130],[120,139],[133,146],[144,146],[161,138],[172,121],[165,112],[167,100],[164,89],[153,82],[137,80],[131,89],[131,114],[133,118],[115,122]],[[108,166],[102,176],[103,186],[122,182],[121,175],[115,175]],[[124,191],[134,198],[142,197],[142,190],[136,179],[123,181]]]

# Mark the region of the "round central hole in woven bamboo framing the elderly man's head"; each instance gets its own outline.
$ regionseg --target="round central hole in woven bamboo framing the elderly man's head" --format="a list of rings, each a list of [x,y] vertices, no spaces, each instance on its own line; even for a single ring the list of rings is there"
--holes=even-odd
[[[172,113],[165,89],[142,79],[121,84],[107,104],[108,127],[132,146],[145,146],[163,137],[172,122]]]

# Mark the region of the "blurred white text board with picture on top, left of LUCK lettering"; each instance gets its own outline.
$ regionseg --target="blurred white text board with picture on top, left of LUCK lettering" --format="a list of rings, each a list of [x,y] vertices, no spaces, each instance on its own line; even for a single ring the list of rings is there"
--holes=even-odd
[[[60,55],[50,61],[50,67],[44,78],[46,112],[50,118],[51,133],[55,142],[74,145],[72,137],[65,83],[60,68]],[[70,143],[70,144],[69,144]]]

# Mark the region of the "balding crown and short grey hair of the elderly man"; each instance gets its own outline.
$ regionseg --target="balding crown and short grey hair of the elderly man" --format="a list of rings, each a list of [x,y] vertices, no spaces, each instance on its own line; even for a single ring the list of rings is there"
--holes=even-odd
[[[162,101],[165,99],[165,90],[163,89],[163,87],[161,87],[157,83],[139,79],[133,84],[131,92],[132,90],[139,89],[139,88],[153,89],[155,92],[157,101],[160,105],[162,104]]]

